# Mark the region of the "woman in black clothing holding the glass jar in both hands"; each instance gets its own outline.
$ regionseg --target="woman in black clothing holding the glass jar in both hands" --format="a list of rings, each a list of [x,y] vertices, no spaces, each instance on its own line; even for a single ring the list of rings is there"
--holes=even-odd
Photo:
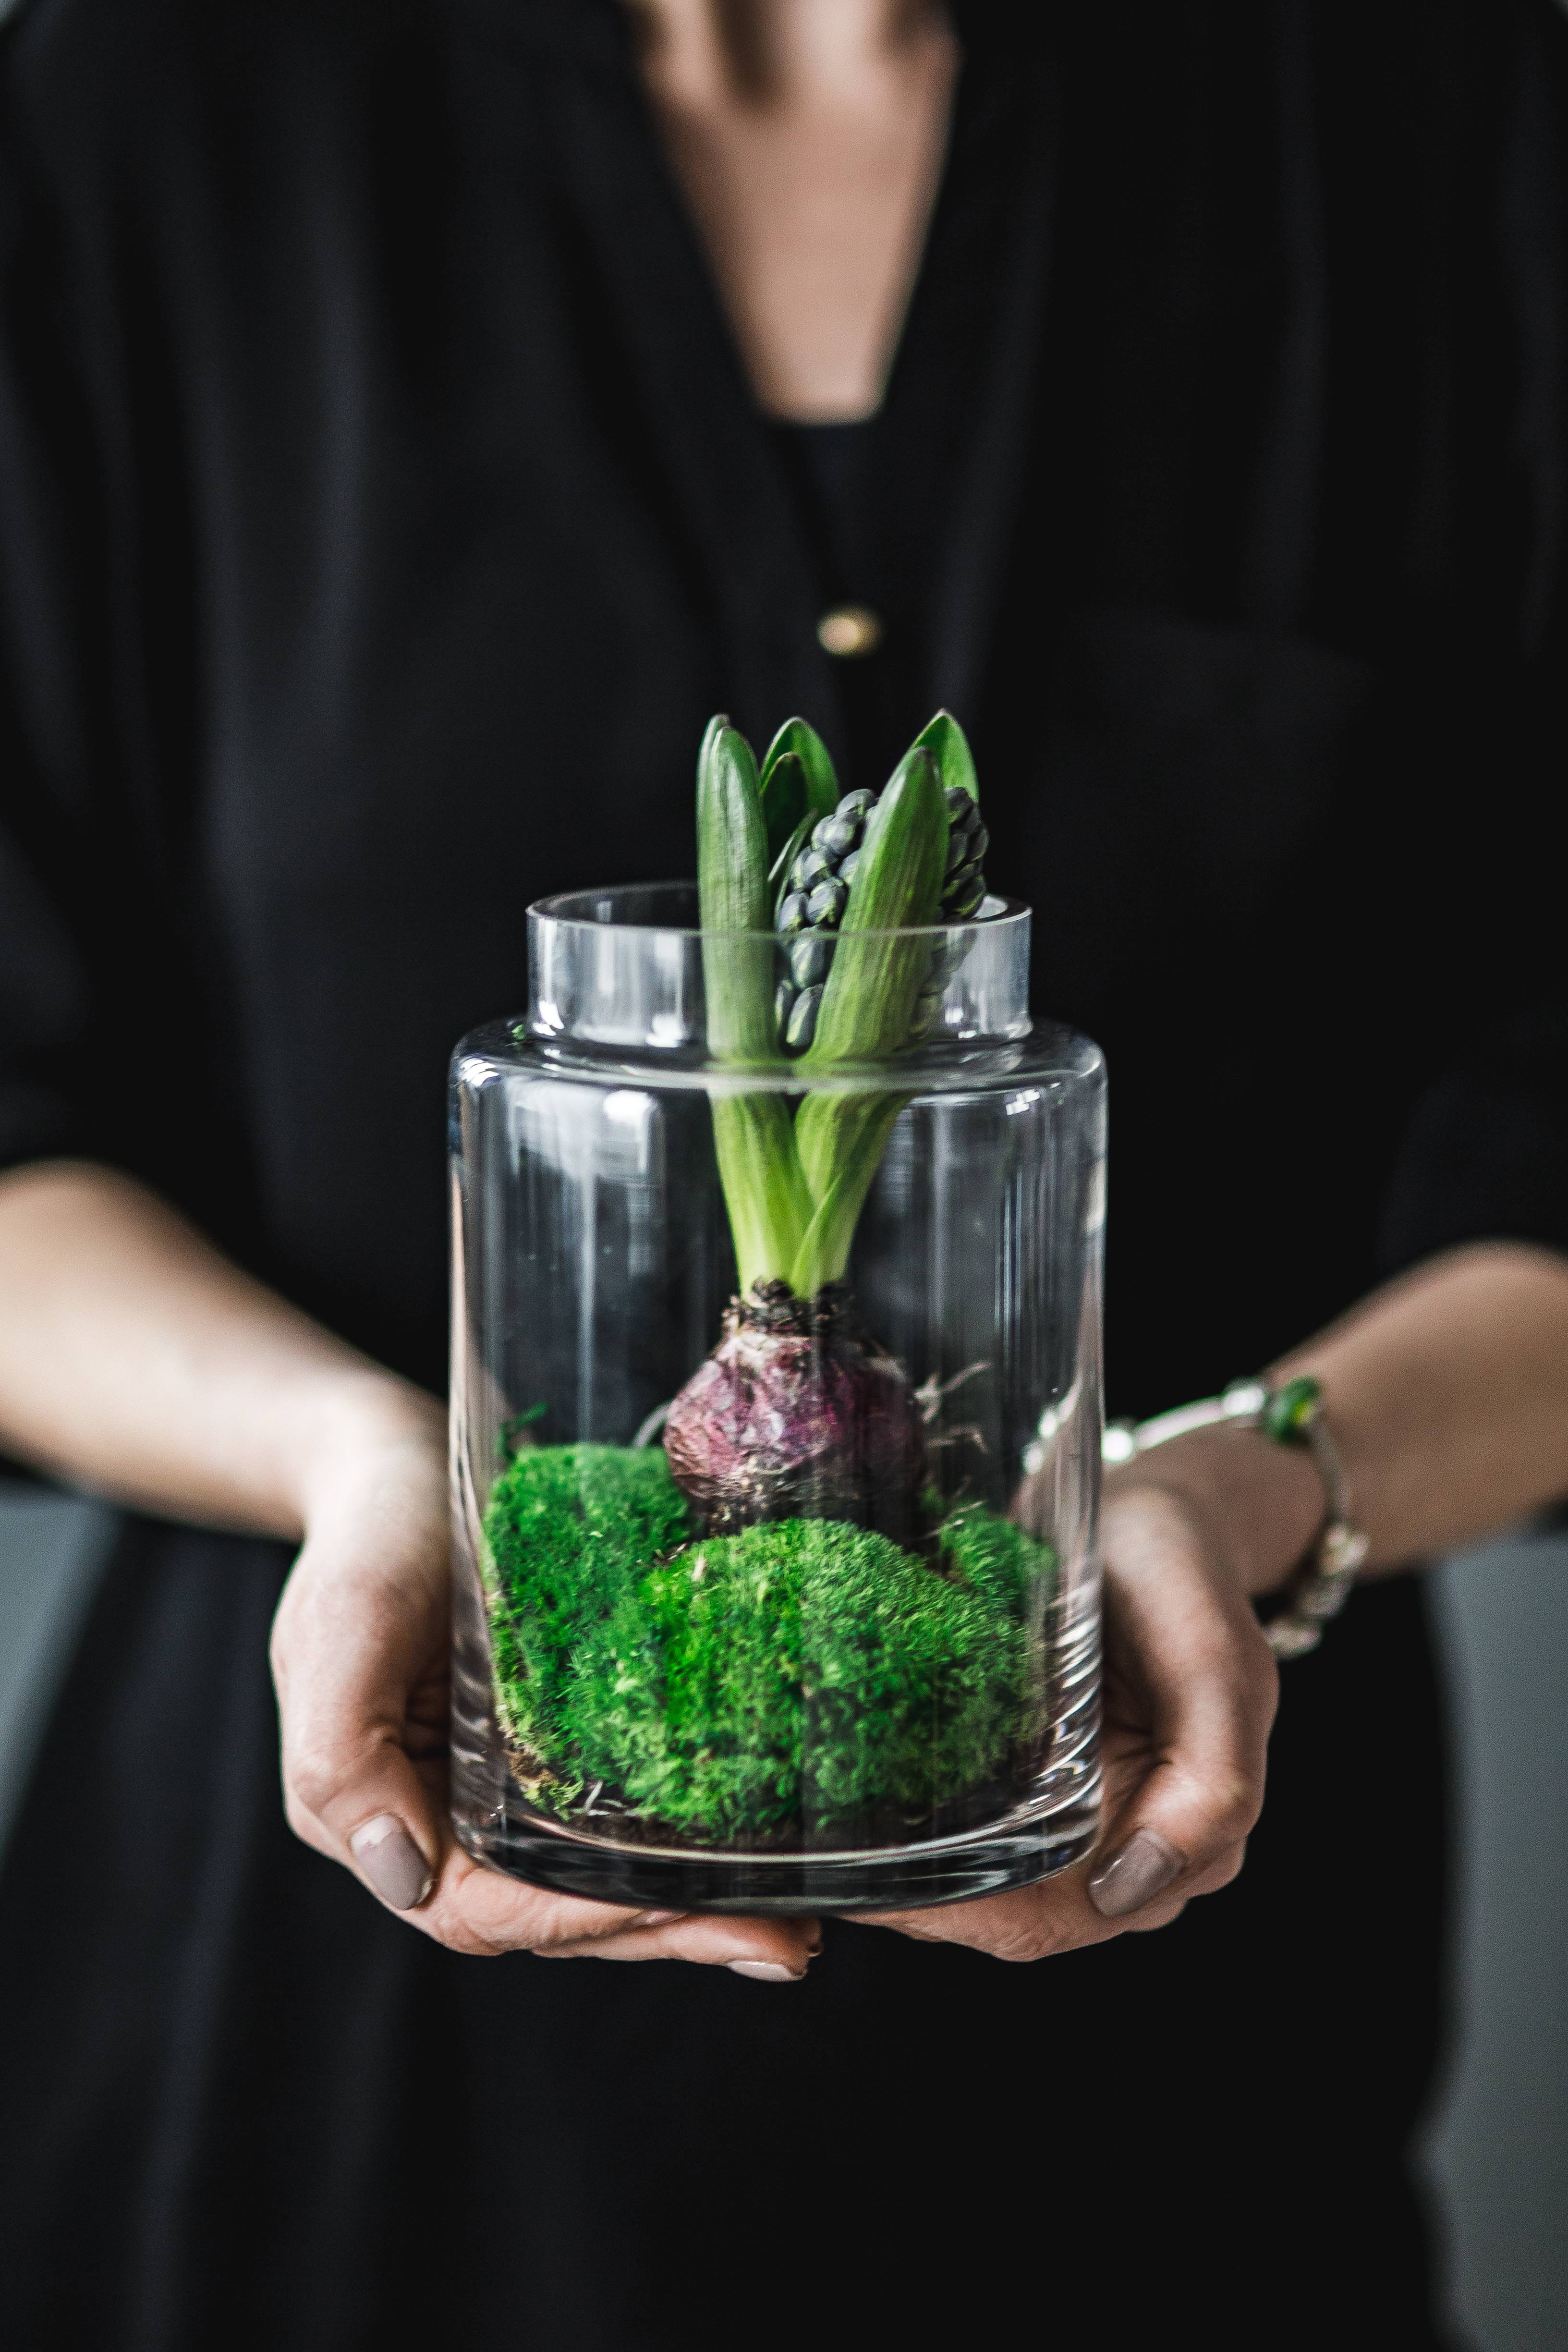
[[[0,1430],[132,1508],[0,1910],[19,2340],[1443,2340],[1439,1708],[1378,1576],[1568,1489],[1566,45],[12,21]],[[689,861],[708,710],[877,781],[940,701],[1110,1051],[1112,1404],[1314,1371],[1371,1583],[1237,1877],[1324,1496],[1239,1432],[1121,1472],[1098,1853],[813,1957],[449,1839],[440,1084],[531,898]]]

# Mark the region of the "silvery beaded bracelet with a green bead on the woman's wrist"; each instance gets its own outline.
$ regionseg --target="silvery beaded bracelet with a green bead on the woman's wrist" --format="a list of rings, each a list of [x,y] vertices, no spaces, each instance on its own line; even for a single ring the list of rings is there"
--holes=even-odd
[[[1324,1639],[1324,1625],[1349,1599],[1356,1569],[1366,1559],[1368,1538],[1349,1515],[1345,1463],[1324,1421],[1324,1390],[1309,1374],[1298,1374],[1279,1388],[1262,1381],[1232,1381],[1222,1397],[1180,1404],[1152,1421],[1110,1421],[1103,1458],[1131,1463],[1190,1430],[1260,1430],[1279,1446],[1309,1446],[1328,1496],[1328,1517],[1291,1578],[1279,1611],[1265,1621],[1265,1637],[1276,1658],[1305,1658]]]

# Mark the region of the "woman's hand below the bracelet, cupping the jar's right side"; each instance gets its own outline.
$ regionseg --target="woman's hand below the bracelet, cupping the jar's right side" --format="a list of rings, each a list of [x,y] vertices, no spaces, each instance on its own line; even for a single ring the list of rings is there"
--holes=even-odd
[[[1258,1468],[1272,1468],[1262,1449]],[[1187,1477],[1201,1491],[1197,1465],[1187,1463]],[[1274,1519],[1291,1541],[1298,1496],[1288,1468],[1281,1482]],[[1199,1503],[1185,1482],[1138,1472],[1107,1491],[1105,1813],[1095,1853],[1039,1886],[886,1912],[872,1924],[997,1959],[1044,1959],[1126,1929],[1168,1926],[1192,1896],[1234,1879],[1262,1806],[1276,1675],[1225,1534],[1225,1503],[1220,1482]]]

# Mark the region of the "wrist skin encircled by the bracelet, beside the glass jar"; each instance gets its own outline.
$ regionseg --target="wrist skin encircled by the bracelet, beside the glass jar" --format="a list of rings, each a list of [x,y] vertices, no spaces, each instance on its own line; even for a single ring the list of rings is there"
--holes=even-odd
[[[1192,1430],[1107,1470],[1107,1501],[1133,1491],[1171,1496],[1251,1599],[1288,1583],[1326,1510],[1309,1454],[1239,1428]]]

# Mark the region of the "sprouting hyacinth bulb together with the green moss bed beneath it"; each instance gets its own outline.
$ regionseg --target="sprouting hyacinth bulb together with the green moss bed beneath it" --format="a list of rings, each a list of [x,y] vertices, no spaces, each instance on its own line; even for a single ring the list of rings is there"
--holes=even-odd
[[[698,901],[738,1294],[663,1444],[522,1442],[484,1512],[496,1708],[517,1783],[557,1816],[856,1846],[973,1818],[1027,1752],[1025,1623],[1053,1557],[938,1494],[931,1397],[844,1279],[910,1098],[898,1061],[952,969],[933,927],[983,910],[983,854],[947,713],[877,795],[839,795],[804,720],[762,769],[708,727]]]

